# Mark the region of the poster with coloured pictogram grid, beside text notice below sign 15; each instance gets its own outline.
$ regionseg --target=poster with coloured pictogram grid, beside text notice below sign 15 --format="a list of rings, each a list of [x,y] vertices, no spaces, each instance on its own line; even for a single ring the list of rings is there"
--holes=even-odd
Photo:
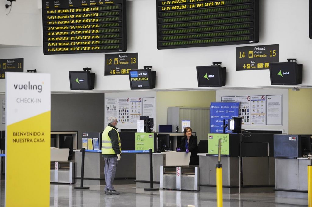
[[[266,96],[250,96],[251,125],[266,125]]]

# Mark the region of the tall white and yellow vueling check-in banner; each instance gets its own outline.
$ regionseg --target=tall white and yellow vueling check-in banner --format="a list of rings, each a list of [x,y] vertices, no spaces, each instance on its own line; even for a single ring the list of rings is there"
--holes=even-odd
[[[50,74],[5,75],[5,206],[49,206]]]

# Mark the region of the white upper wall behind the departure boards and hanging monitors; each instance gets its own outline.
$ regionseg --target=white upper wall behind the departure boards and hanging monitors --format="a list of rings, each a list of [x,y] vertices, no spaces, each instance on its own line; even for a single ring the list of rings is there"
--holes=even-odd
[[[36,8],[27,8],[27,11],[36,13],[37,1],[28,1],[35,2],[33,7]],[[1,0],[1,2],[6,1]],[[21,2],[23,1],[13,2],[12,10],[18,10],[18,7],[21,9],[23,6]],[[301,86],[312,86],[312,70],[310,69],[312,40],[309,39],[308,30],[309,1],[261,0],[259,4],[260,41],[256,45],[280,44],[280,62],[286,61],[287,58],[297,58],[298,63],[303,64]],[[0,9],[1,19],[4,16],[2,9]],[[157,50],[156,1],[127,1],[127,18],[127,53],[139,53],[139,68],[152,65],[157,71],[155,90],[198,89],[196,66],[211,65],[212,62],[218,61],[222,62],[222,67],[227,67],[225,88],[271,87],[267,69],[236,71],[236,47],[250,45]],[[22,21],[23,14],[20,19]],[[38,24],[41,26],[41,22]],[[7,25],[1,21],[0,27],[3,28],[3,26],[9,33],[16,27],[16,25]],[[30,30],[26,36],[38,35],[41,32],[41,30]],[[7,35],[3,36],[3,33],[0,33],[0,37],[0,40],[3,40],[7,38]],[[105,53],[43,55],[42,46],[0,49],[0,59],[24,58],[25,71],[36,68],[38,72],[51,73],[52,92],[70,91],[68,71],[82,70],[83,67],[92,68],[96,74],[93,92],[129,90],[128,76],[104,76],[104,55]],[[216,88],[209,88],[209,90],[212,89]],[[5,80],[0,79],[0,93],[3,92],[5,92]]]

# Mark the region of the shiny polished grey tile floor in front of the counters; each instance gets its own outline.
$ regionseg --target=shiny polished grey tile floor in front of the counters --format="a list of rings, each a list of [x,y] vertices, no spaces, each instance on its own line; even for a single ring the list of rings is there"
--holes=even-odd
[[[84,185],[87,186],[87,185]],[[73,185],[50,185],[50,206],[54,207],[215,207],[216,194],[194,191],[144,191],[135,184],[114,185],[119,195],[105,195],[104,186],[77,190]],[[275,193],[223,194],[225,207],[301,207],[306,199],[275,197]],[[0,207],[4,207],[4,181],[0,181]]]

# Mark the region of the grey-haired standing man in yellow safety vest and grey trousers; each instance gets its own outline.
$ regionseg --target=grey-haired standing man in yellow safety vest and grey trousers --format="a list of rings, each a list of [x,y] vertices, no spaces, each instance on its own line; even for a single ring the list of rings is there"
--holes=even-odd
[[[116,128],[118,120],[114,116],[108,118],[108,126],[102,134],[102,157],[105,161],[105,194],[119,194],[114,189],[113,181],[116,174],[117,161],[120,160],[121,142]]]

